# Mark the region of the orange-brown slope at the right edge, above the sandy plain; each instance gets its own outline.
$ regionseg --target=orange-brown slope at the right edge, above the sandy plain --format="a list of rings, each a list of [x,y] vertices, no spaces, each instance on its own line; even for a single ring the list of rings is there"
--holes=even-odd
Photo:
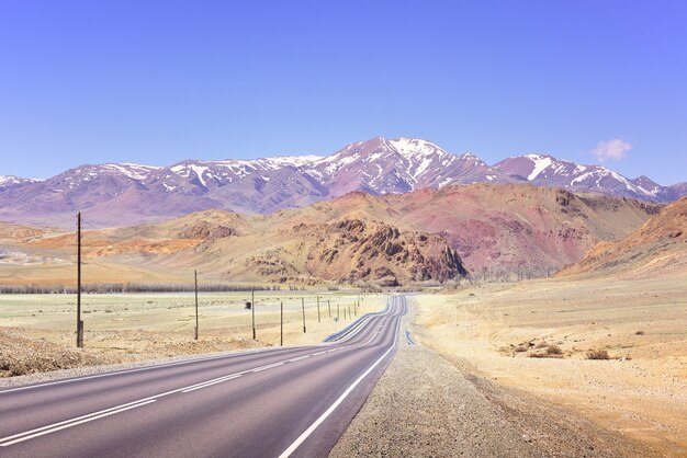
[[[597,244],[559,276],[639,278],[686,274],[687,197],[683,197],[628,237]]]

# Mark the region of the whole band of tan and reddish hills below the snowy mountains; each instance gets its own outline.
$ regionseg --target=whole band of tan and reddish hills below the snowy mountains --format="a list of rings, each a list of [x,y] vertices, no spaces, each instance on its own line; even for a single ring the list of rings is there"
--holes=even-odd
[[[87,282],[375,283],[547,276],[661,206],[532,185],[452,185],[404,195],[350,193],[272,215],[194,213],[86,230]],[[87,221],[88,222],[88,221]],[[88,226],[87,226],[88,228]],[[8,241],[41,262],[7,263],[0,284],[74,282],[74,232]],[[53,260],[47,262],[47,260]]]

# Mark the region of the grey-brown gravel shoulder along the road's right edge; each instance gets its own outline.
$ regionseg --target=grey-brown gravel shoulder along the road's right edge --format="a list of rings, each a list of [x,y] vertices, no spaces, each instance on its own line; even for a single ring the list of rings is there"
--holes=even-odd
[[[330,456],[651,457],[652,449],[586,419],[459,368],[399,350]]]

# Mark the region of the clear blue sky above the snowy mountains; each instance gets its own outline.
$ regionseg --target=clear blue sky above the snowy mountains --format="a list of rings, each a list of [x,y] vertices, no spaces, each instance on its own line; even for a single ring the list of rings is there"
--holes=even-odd
[[[684,1],[4,0],[0,174],[381,135],[489,163],[598,163],[621,140],[606,165],[672,184],[687,180],[686,23]]]

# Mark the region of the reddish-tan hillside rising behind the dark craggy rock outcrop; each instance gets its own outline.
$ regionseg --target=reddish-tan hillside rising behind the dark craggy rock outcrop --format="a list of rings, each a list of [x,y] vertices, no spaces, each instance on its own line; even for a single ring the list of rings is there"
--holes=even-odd
[[[354,193],[281,218],[297,224],[354,217],[438,233],[473,278],[517,279],[553,274],[597,242],[627,236],[660,208],[525,184],[474,184],[382,197]]]

